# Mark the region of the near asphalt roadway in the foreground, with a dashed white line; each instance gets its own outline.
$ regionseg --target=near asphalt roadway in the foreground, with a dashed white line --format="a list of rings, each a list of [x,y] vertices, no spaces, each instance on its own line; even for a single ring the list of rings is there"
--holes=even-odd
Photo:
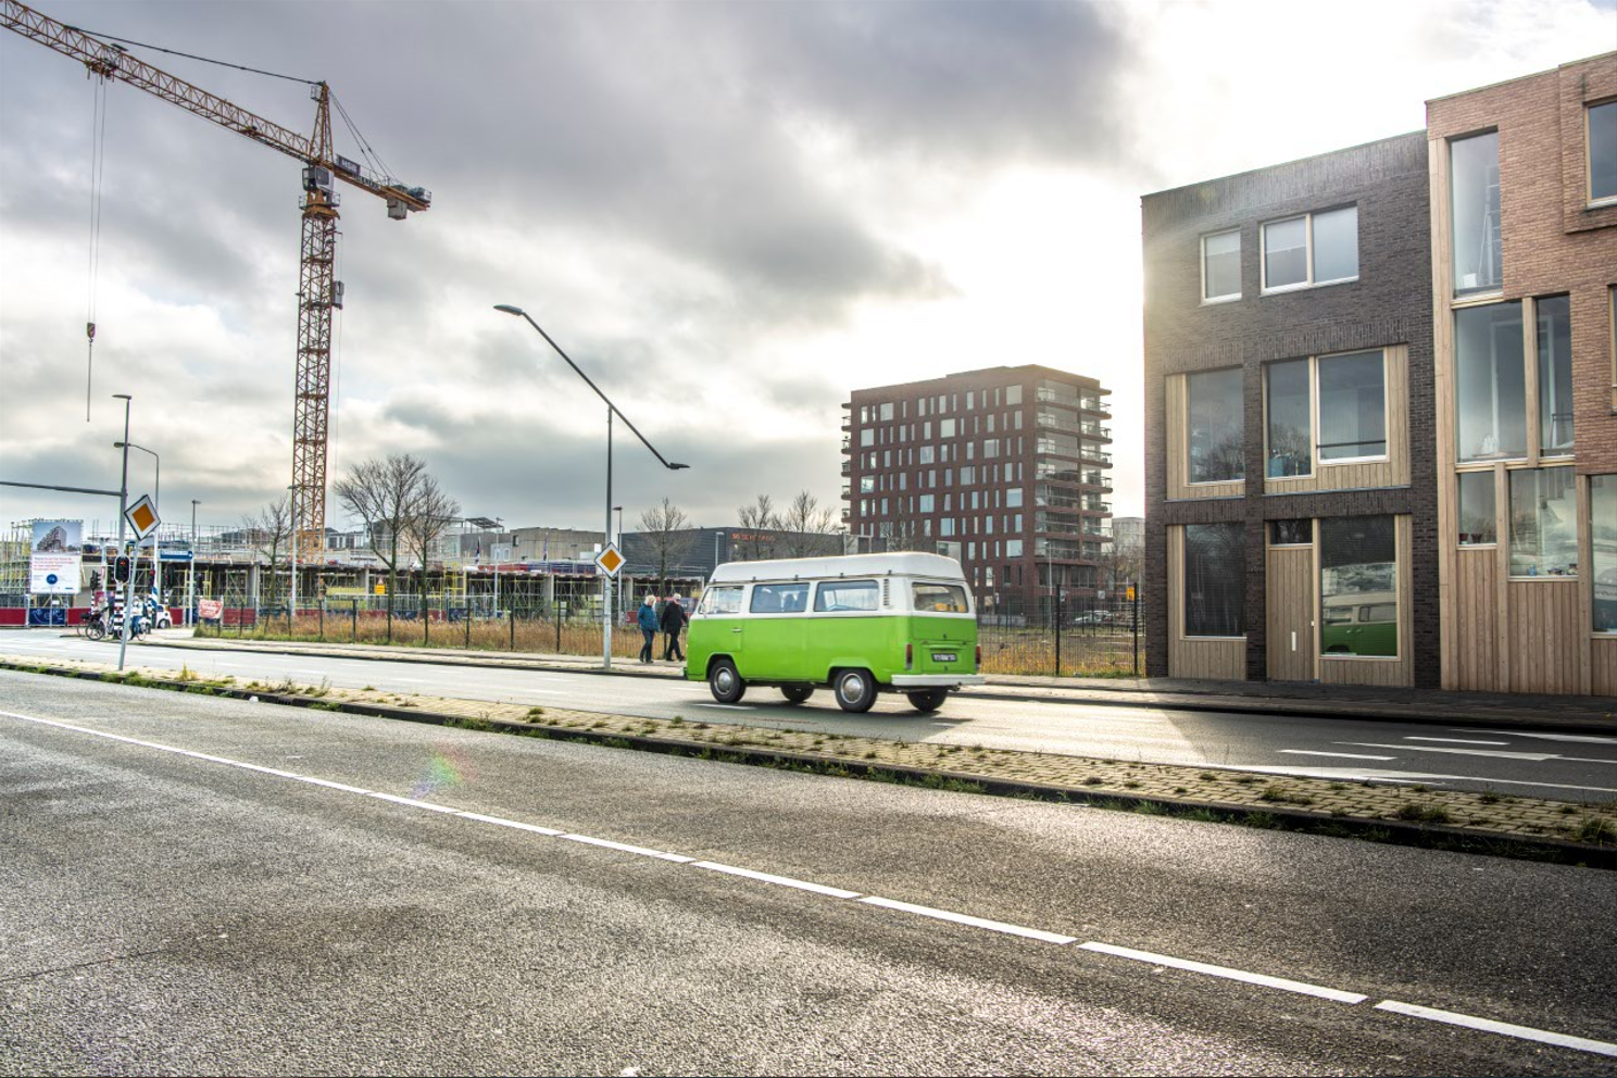
[[[5,1075],[1617,1059],[1591,870],[15,672],[0,824]]]

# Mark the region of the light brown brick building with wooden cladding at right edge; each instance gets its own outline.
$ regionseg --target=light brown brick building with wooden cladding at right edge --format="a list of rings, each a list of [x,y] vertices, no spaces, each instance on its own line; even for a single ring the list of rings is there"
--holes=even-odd
[[[1617,695],[1617,53],[1426,137],[1442,684]]]

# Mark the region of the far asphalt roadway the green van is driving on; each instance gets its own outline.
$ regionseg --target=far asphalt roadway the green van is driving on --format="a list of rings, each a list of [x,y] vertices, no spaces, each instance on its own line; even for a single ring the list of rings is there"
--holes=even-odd
[[[116,645],[57,634],[8,634],[0,637],[0,653],[110,661]],[[715,722],[1211,764],[1349,782],[1376,779],[1525,797],[1617,800],[1617,735],[1601,734],[991,700],[972,697],[970,690],[951,697],[936,714],[918,714],[902,697],[884,695],[868,714],[851,716],[823,690],[802,706],[787,705],[771,688],[754,688],[739,705],[720,705],[700,682],[603,680],[598,674],[158,646],[133,646],[129,655],[133,664],[171,669],[184,664],[201,674],[231,674],[241,680],[328,679],[351,688],[372,685],[647,718],[703,716]]]

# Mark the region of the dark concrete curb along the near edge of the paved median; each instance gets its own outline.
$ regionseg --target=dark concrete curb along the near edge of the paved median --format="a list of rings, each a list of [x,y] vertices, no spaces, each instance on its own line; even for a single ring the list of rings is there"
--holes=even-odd
[[[108,677],[103,672],[73,667],[52,666],[49,663],[26,664],[0,661],[0,669],[19,672],[49,674],[55,677],[73,677],[79,680],[97,680],[107,684],[128,684],[120,676]],[[1190,813],[1216,813],[1222,816],[1218,823],[1243,823],[1247,826],[1273,826],[1282,831],[1300,831],[1307,834],[1326,834],[1329,837],[1355,837],[1392,842],[1395,845],[1412,845],[1421,849],[1459,850],[1491,857],[1514,857],[1528,860],[1544,860],[1564,865],[1580,865],[1586,868],[1617,870],[1617,845],[1588,845],[1551,839],[1543,836],[1501,836],[1481,829],[1455,827],[1444,824],[1405,823],[1397,819],[1371,819],[1363,816],[1321,816],[1289,810],[1282,806],[1255,808],[1229,802],[1174,798],[1161,795],[1121,794],[1114,790],[1095,792],[1083,787],[1030,782],[1022,779],[988,777],[973,773],[915,768],[899,763],[865,763],[860,760],[844,760],[834,756],[797,753],[775,748],[754,748],[747,745],[713,745],[700,740],[684,740],[674,737],[647,737],[629,732],[598,732],[550,726],[543,722],[517,722],[511,719],[479,718],[464,719],[459,716],[414,710],[395,708],[377,703],[349,703],[323,700],[319,697],[302,697],[277,693],[267,690],[247,690],[236,687],[217,687],[205,682],[186,682],[167,677],[141,676],[134,687],[155,687],[168,692],[197,693],[223,697],[228,700],[255,700],[317,711],[338,711],[367,718],[382,718],[425,726],[448,726],[459,729],[485,729],[526,737],[543,737],[547,740],[577,742],[610,748],[634,748],[639,752],[655,752],[661,755],[694,756],[720,763],[744,763],[754,766],[786,766],[800,768],[817,774],[852,776],[868,781],[899,781],[909,785],[941,787],[957,784],[975,787],[960,792],[982,792],[991,797],[1017,797],[1066,805],[1082,805],[1091,808],[1112,808],[1124,811],[1156,810],[1167,816],[1185,816]],[[1260,818],[1263,823],[1260,823]],[[1214,821],[1208,821],[1214,823]]]

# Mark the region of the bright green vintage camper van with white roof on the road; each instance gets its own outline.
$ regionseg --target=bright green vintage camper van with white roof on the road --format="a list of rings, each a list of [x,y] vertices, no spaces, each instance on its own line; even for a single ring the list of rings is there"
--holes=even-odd
[[[914,553],[720,566],[686,646],[686,677],[720,703],[747,685],[802,703],[828,685],[844,711],[868,711],[878,692],[936,711],[951,688],[983,682],[977,663],[960,564]]]

